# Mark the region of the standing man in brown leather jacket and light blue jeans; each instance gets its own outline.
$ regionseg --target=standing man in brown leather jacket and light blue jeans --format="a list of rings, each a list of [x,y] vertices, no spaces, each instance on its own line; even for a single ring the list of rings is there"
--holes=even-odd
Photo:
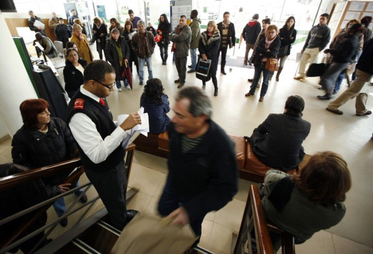
[[[132,36],[131,47],[136,53],[138,61],[138,77],[140,85],[144,83],[144,64],[147,66],[147,78],[153,78],[152,55],[156,47],[154,35],[145,30],[145,23],[142,20],[137,21],[138,31]]]

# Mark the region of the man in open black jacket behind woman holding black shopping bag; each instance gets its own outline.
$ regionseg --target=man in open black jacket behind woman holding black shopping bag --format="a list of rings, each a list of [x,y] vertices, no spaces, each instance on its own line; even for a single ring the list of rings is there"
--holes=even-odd
[[[224,20],[217,24],[217,29],[220,32],[220,48],[217,55],[221,52],[220,72],[226,75],[224,68],[226,67],[226,58],[228,47],[231,49],[236,45],[236,31],[235,25],[229,21],[229,12],[223,14]]]

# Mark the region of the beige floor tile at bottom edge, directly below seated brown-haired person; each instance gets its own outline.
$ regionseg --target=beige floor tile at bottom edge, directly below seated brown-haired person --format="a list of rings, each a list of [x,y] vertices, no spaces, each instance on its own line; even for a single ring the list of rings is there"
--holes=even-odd
[[[302,254],[333,254],[335,253],[331,233],[321,230],[315,233],[305,243],[296,244],[295,252]],[[348,252],[345,252],[348,253]]]

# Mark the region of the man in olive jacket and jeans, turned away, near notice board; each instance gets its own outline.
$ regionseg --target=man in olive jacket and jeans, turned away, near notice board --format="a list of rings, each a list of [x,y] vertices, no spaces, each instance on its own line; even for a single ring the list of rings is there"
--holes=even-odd
[[[191,12],[191,20],[192,23],[189,25],[192,31],[192,38],[191,38],[191,60],[192,64],[188,67],[191,68],[188,73],[195,72],[197,67],[197,49],[198,49],[198,43],[200,41],[201,36],[201,20],[197,17],[198,11],[193,10]]]

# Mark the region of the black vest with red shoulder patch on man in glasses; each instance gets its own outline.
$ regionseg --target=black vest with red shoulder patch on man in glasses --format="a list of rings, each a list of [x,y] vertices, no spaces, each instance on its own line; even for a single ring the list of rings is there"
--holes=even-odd
[[[84,100],[84,106],[83,109],[74,109],[74,102],[77,99],[83,99]],[[92,98],[82,94],[80,90],[71,98],[70,103],[67,106],[66,109],[66,115],[67,124],[70,122],[71,117],[76,113],[84,113],[86,114],[95,124],[96,129],[98,133],[101,135],[102,139],[105,139],[107,136],[109,136],[114,130],[117,128],[117,126],[113,122],[113,115],[109,111],[109,107],[107,106],[107,102],[105,101],[105,106],[102,106],[97,101],[93,100]],[[88,156],[84,153],[82,148],[79,146],[77,142],[81,160],[84,165],[84,167],[88,170],[92,171],[107,171],[111,168],[114,168],[117,166],[121,161],[123,161],[124,155],[126,153],[126,150],[120,145],[115,149],[107,158],[96,164],[92,162]]]

